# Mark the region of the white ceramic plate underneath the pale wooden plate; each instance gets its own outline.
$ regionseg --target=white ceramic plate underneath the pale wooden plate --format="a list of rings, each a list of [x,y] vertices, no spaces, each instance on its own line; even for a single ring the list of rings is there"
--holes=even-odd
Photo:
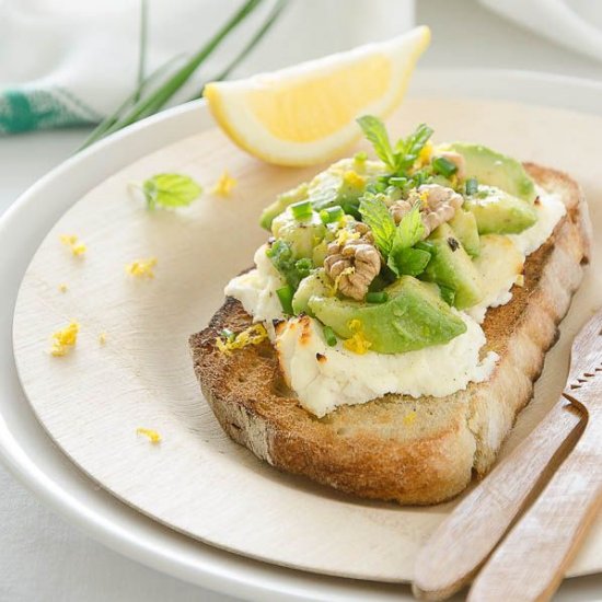
[[[465,82],[471,82],[468,90]],[[483,88],[476,86],[481,81]],[[440,85],[438,89],[433,82]],[[503,83],[506,82],[506,83]],[[552,81],[532,74],[448,72],[424,73],[415,85],[427,95],[488,96],[534,101],[551,99],[554,106],[571,107],[579,99],[583,111],[594,112],[600,86],[576,80]],[[501,89],[500,89],[501,88]],[[523,91],[523,95],[517,92]],[[555,94],[542,94],[543,90]],[[416,93],[416,92],[415,92]],[[0,443],[9,466],[26,484],[66,512],[73,521],[112,547],[155,568],[202,583],[206,587],[267,599],[268,595],[300,598],[398,599],[398,587],[320,578],[278,569],[218,552],[165,530],[132,512],[111,496],[97,490],[55,449],[45,437],[23,397],[10,350],[10,324],[14,297],[24,269],[38,243],[56,219],[84,192],[123,165],[208,125],[199,104],[171,111],[139,124],[55,170],[30,189],[0,222],[0,301],[2,357],[0,379]],[[66,174],[70,174],[67,178]],[[44,198],[39,198],[44,196]],[[35,205],[35,211],[32,207]]]

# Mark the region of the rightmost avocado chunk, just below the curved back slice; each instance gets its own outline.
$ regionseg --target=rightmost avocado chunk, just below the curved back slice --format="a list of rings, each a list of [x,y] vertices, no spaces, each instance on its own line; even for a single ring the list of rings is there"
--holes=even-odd
[[[537,221],[537,213],[529,202],[481,184],[478,192],[464,201],[464,209],[474,215],[479,234],[516,234]]]

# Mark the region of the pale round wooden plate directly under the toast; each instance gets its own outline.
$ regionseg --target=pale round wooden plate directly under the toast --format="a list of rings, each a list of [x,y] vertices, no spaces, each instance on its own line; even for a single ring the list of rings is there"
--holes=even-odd
[[[522,160],[565,170],[583,186],[594,232],[602,231],[602,118],[490,101],[413,100],[394,132],[426,121],[436,139],[473,139]],[[210,194],[227,169],[232,196]],[[408,581],[420,544],[454,502],[400,508],[340,495],[280,474],[232,443],[201,397],[187,349],[248,266],[265,233],[263,206],[320,167],[278,169],[254,160],[208,129],[154,152],[84,195],[50,230],[30,265],[14,313],[14,354],[23,387],[48,435],[91,478],[144,514],[192,537],[303,570],[378,581]],[[182,172],[205,185],[189,208],[149,212],[128,183]],[[59,242],[88,245],[73,257]],[[535,400],[503,452],[558,398],[572,335],[602,305],[602,236],[562,337],[548,354]],[[158,258],[154,279],[125,265]],[[59,291],[66,283],[68,290]],[[77,348],[48,354],[50,335],[80,323]],[[101,333],[106,343],[100,344]],[[160,444],[137,436],[158,430]],[[602,571],[602,519],[569,575]]]

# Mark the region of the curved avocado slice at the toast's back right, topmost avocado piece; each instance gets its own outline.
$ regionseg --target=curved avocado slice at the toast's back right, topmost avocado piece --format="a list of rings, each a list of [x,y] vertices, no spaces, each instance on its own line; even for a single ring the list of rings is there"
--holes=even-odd
[[[482,144],[470,142],[453,142],[447,144],[445,149],[464,157],[466,178],[476,177],[482,184],[497,186],[528,202],[535,200],[537,196],[535,184],[520,161]]]

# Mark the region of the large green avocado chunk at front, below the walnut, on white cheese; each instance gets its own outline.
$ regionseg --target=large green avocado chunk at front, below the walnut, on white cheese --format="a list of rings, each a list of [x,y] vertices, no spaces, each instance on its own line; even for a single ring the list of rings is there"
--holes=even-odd
[[[379,354],[442,345],[466,332],[464,321],[428,283],[402,276],[385,290],[389,300],[382,304],[314,296],[309,306],[341,338],[351,338],[359,328],[369,349]]]

